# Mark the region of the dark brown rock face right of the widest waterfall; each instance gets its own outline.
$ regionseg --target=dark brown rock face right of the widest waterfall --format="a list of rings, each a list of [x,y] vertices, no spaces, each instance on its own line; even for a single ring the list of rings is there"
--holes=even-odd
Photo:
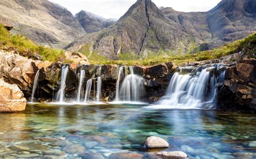
[[[241,60],[227,68],[225,82],[219,87],[219,110],[256,111],[256,60]]]

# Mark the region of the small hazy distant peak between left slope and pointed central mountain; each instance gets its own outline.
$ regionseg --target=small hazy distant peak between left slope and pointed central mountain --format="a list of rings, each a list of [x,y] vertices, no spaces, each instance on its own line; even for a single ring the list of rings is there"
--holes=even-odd
[[[75,17],[87,33],[101,31],[116,22],[115,19],[105,19],[84,10],[77,13]]]

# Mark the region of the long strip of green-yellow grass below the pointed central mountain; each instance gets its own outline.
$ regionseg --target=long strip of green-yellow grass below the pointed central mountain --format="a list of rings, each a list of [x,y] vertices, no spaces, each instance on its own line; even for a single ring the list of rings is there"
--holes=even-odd
[[[118,64],[127,66],[152,66],[154,64],[164,62],[174,62],[178,65],[186,62],[204,61],[211,59],[218,59],[223,56],[227,56],[234,53],[239,53],[244,50],[246,54],[252,55],[256,48],[256,34],[252,34],[245,39],[234,41],[231,44],[226,44],[223,47],[214,48],[212,50],[206,50],[203,52],[191,54],[171,54],[169,52],[160,51],[159,53],[151,56],[150,58],[141,57],[140,60],[110,60],[110,61],[90,61],[91,64]],[[123,57],[124,55],[122,55]],[[131,55],[126,55],[131,57]],[[122,58],[124,59],[124,58]],[[128,58],[130,59],[130,58]],[[138,59],[138,57],[137,57]]]

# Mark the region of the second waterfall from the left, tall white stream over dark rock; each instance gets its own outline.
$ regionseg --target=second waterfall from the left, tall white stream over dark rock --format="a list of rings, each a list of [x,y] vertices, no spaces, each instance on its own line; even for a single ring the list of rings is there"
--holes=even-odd
[[[61,77],[61,82],[60,82],[60,89],[57,93],[58,97],[58,102],[62,103],[64,102],[64,97],[65,97],[65,88],[66,88],[66,76],[69,73],[69,66],[65,65],[62,67],[62,77]]]

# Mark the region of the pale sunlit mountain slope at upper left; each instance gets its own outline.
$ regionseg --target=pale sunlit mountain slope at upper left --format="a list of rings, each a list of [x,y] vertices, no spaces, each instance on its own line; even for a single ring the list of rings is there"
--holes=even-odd
[[[86,32],[70,11],[46,0],[1,0],[0,13],[22,34],[41,45],[63,48]]]

